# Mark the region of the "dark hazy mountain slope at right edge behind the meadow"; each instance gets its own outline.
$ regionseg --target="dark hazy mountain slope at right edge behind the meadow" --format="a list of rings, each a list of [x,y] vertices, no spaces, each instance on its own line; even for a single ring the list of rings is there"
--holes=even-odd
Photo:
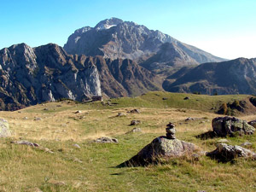
[[[170,79],[163,83],[163,88],[167,91],[199,91],[210,95],[256,94],[256,59],[239,58],[219,63],[204,63],[187,69],[174,82],[172,77]]]

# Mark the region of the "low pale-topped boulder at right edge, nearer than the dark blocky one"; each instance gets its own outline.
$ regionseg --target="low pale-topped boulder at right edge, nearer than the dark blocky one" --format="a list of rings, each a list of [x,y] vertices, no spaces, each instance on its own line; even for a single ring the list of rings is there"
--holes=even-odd
[[[219,143],[215,150],[207,153],[207,156],[222,162],[234,160],[238,157],[253,157],[254,159],[255,155],[253,151],[247,148],[242,148],[238,145],[228,145],[226,143]]]

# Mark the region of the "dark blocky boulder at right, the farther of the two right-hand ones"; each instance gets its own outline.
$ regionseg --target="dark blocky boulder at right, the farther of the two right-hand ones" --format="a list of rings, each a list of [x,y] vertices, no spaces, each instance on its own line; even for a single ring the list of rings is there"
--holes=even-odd
[[[234,137],[238,135],[252,135],[255,128],[247,121],[235,117],[218,117],[212,119],[212,129],[219,137]]]

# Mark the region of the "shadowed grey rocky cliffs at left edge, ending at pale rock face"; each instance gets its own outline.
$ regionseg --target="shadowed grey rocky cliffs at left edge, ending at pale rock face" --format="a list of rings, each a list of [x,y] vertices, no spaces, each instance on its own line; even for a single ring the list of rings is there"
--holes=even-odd
[[[96,66],[85,56],[67,55],[56,44],[32,49],[17,44],[0,50],[0,104],[14,110],[70,98],[82,101],[102,94]]]

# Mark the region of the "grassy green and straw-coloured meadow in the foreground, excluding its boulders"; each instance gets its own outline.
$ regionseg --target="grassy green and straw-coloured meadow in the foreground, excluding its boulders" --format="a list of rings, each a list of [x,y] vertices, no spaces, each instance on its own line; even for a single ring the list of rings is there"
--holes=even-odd
[[[186,96],[189,100],[183,99]],[[256,191],[253,160],[223,164],[201,156],[199,161],[183,157],[157,166],[117,167],[164,135],[170,121],[176,125],[178,139],[195,143],[201,151],[212,151],[219,138],[195,136],[212,130],[212,119],[220,116],[215,112],[223,102],[247,98],[149,92],[134,98],[49,102],[0,112],[13,135],[0,138],[0,191]],[[128,113],[134,108],[141,113]],[[118,113],[126,116],[118,117]],[[188,117],[195,120],[185,121]],[[239,113],[239,117],[252,120],[256,113]],[[131,126],[133,119],[142,124]],[[127,133],[134,127],[142,132]],[[115,137],[119,143],[93,142],[103,136]],[[11,143],[20,139],[53,153]],[[256,151],[254,135],[227,139],[233,145],[253,143],[250,149]]]

